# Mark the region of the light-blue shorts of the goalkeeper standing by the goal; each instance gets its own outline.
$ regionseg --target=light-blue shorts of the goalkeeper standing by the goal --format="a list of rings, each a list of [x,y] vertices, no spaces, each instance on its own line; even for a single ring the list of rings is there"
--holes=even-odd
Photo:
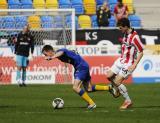
[[[17,55],[16,56],[16,64],[19,67],[27,67],[27,65],[28,65],[28,57]]]

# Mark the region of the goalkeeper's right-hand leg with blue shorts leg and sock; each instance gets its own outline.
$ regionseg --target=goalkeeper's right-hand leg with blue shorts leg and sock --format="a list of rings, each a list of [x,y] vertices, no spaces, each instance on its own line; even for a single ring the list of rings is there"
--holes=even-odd
[[[25,81],[26,81],[26,68],[28,66],[28,58],[23,56],[23,61],[22,61],[22,84],[23,86],[26,86]]]

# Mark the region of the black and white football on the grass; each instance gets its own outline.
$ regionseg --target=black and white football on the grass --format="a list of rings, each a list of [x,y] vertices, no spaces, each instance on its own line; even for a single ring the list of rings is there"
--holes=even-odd
[[[64,100],[61,98],[55,98],[52,102],[54,109],[62,109],[64,107]]]

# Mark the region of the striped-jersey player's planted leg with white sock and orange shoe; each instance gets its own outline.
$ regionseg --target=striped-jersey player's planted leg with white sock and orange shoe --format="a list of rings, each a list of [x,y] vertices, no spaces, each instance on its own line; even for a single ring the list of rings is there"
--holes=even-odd
[[[130,107],[132,105],[132,101],[129,97],[127,88],[124,84],[122,84],[122,82],[124,81],[124,79],[127,77],[127,74],[122,75],[122,73],[120,72],[120,74],[118,74],[114,80],[119,92],[121,93],[121,95],[124,97],[125,101],[122,104],[122,106],[120,107],[120,109],[126,109],[128,107]]]

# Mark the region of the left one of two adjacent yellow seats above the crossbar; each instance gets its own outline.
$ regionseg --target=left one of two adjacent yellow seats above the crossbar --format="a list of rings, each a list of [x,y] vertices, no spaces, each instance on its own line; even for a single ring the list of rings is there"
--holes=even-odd
[[[33,0],[33,6],[35,9],[45,9],[44,0]]]

